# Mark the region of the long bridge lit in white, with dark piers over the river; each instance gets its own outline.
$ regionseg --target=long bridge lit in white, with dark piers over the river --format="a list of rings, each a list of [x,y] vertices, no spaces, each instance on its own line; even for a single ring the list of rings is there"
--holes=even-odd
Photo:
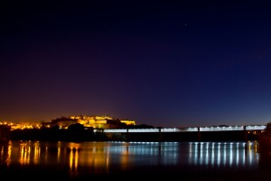
[[[184,141],[184,140],[248,140],[257,139],[266,125],[217,126],[155,129],[94,129],[112,137],[128,141]]]

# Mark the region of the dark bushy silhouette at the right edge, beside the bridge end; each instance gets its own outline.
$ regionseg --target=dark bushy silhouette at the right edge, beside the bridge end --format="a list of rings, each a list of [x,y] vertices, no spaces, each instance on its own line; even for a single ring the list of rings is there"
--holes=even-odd
[[[259,134],[258,145],[260,152],[271,154],[271,122],[268,122],[266,129]]]

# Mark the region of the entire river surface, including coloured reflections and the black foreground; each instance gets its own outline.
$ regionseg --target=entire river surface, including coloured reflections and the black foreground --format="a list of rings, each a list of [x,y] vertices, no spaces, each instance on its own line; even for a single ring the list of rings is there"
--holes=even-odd
[[[258,152],[257,141],[10,141],[0,144],[0,176],[26,180],[270,181],[270,157]]]

